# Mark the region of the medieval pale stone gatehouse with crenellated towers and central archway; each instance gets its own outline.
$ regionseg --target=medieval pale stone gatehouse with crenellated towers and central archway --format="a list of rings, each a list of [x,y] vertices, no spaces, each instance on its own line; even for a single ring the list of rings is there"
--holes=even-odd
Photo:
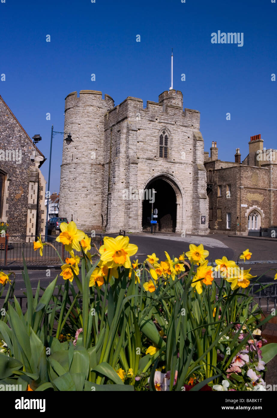
[[[91,90],[65,98],[60,216],[86,232],[208,233],[208,199],[200,113],[183,110],[169,90],[159,102],[113,99]],[[152,191],[155,191],[152,194]],[[205,222],[205,223],[204,223]]]

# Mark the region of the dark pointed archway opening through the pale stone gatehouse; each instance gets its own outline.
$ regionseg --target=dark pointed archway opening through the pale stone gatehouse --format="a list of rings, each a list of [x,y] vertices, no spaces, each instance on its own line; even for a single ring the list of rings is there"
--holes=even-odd
[[[156,193],[152,195],[152,189]],[[177,198],[176,192],[169,181],[164,178],[154,178],[149,181],[145,188],[144,200],[142,202],[142,229],[150,231],[151,229],[151,208],[152,196],[154,196],[153,209],[157,209],[156,231],[175,232],[177,219]]]

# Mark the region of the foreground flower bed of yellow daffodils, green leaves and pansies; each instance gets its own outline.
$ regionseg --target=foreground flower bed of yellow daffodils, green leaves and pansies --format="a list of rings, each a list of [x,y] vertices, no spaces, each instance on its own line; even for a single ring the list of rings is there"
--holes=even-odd
[[[208,265],[209,252],[192,244],[178,258],[165,252],[159,262],[153,253],[139,262],[138,247],[123,236],[105,237],[93,263],[91,239],[74,222],[60,229],[57,241],[71,255],[60,260],[65,284],[57,286],[56,277],[41,298],[39,285],[33,296],[25,266],[24,316],[16,298],[8,302],[15,281],[0,273],[3,287],[10,281],[0,320],[0,384],[38,391],[264,390],[277,344],[264,345],[260,329],[272,316],[261,321],[251,295],[259,278],[250,269],[226,257]],[[34,249],[42,255],[45,245],[39,238]],[[249,250],[241,255],[250,257]]]

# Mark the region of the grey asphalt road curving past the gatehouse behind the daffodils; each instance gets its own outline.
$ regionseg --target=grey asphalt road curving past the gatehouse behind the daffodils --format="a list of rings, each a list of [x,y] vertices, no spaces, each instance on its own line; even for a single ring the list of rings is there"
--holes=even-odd
[[[115,236],[115,235],[113,235]],[[165,260],[164,251],[167,251],[170,256],[179,257],[182,252],[189,250],[189,244],[193,243],[199,245],[201,242],[204,248],[209,251],[209,261],[216,258],[222,258],[225,255],[229,260],[237,261],[239,254],[249,248],[252,252],[251,260],[277,260],[277,241],[262,241],[239,237],[227,237],[224,235],[208,235],[208,236],[187,236],[182,238],[176,235],[160,235],[151,236],[151,234],[130,234],[130,242],[138,245],[139,250],[137,254],[131,257],[131,260],[138,257],[139,261],[144,261],[147,255],[156,253],[160,261]],[[245,265],[244,268],[251,268],[252,275],[262,275],[268,269],[277,269],[276,264],[254,264]],[[264,281],[273,281],[276,270],[268,271],[261,279]],[[58,284],[64,283],[60,274],[60,269],[48,268],[41,270],[29,270],[29,276],[32,288],[35,291],[40,280],[40,286],[46,287],[58,274]],[[24,281],[20,270],[15,270],[16,286],[15,295],[22,295],[25,291]]]

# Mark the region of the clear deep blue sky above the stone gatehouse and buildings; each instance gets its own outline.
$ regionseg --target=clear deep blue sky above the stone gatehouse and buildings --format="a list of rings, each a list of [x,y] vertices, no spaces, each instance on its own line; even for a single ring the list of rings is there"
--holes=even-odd
[[[0,17],[0,74],[6,75],[0,94],[30,137],[42,136],[46,179],[51,125],[63,131],[65,96],[91,89],[115,104],[127,96],[145,106],[157,102],[170,86],[171,47],[173,87],[183,92],[184,107],[201,112],[205,150],[214,140],[221,160],[234,161],[236,148],[244,158],[257,134],[277,148],[277,82],[271,81],[277,4],[271,0],[5,0]],[[218,30],[244,33],[244,45],[212,44]],[[51,192],[59,190],[62,143],[56,135]]]

